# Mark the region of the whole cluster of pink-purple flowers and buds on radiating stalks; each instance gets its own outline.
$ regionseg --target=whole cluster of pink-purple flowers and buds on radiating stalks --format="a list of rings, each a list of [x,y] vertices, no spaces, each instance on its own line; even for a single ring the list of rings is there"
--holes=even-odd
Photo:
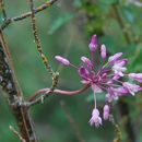
[[[121,59],[122,52],[115,54],[114,56],[107,57],[106,46],[100,46],[100,58],[102,66],[95,70],[94,54],[98,48],[97,37],[93,35],[88,45],[91,51],[91,59],[87,57],[81,57],[81,64],[75,67],[63,57],[56,56],[56,60],[63,66],[72,66],[78,70],[79,75],[82,79],[83,84],[90,84],[94,94],[94,109],[92,118],[90,119],[91,126],[99,127],[102,125],[102,117],[99,110],[96,107],[96,94],[105,92],[105,106],[104,106],[104,120],[109,119],[109,103],[117,100],[123,95],[134,95],[137,92],[142,91],[142,87],[129,82],[122,82],[122,78],[129,78],[130,80],[142,83],[142,73],[126,73],[128,59]],[[126,79],[125,79],[126,80]]]

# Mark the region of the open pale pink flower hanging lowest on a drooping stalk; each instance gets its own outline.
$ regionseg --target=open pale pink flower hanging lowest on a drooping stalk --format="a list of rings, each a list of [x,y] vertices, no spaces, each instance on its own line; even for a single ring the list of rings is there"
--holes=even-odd
[[[98,109],[94,108],[92,113],[92,118],[90,119],[91,126],[95,125],[95,127],[99,127],[102,125],[102,118],[99,117]]]

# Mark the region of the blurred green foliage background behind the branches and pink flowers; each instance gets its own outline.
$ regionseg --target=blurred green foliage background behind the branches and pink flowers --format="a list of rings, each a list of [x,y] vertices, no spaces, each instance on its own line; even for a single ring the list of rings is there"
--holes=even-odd
[[[38,7],[44,0],[34,0]],[[4,0],[10,17],[29,11],[28,1]],[[139,4],[138,4],[139,3]],[[45,55],[54,70],[60,72],[59,88],[78,90],[81,82],[72,68],[59,66],[56,55],[80,63],[80,57],[90,57],[88,43],[97,34],[98,43],[105,44],[109,55],[123,51],[129,59],[128,71],[142,72],[142,1],[134,0],[59,0],[51,8],[36,14],[38,34]],[[2,23],[2,13],[0,13]],[[38,56],[32,34],[31,19],[13,22],[4,29],[14,68],[25,99],[39,88],[51,85],[50,75]],[[96,62],[99,60],[96,57]],[[0,142],[19,142],[9,130],[16,125],[9,110],[5,94],[0,90]],[[133,142],[142,141],[142,94],[123,97],[129,113],[121,115],[121,103],[113,104],[113,114],[119,122],[122,142],[129,141],[128,118],[134,133]],[[93,109],[92,91],[68,97],[51,95],[43,105],[34,106],[31,115],[40,142],[111,142],[115,128],[104,121],[103,127],[90,127]],[[61,107],[63,103],[63,107]],[[104,106],[104,97],[97,98],[97,106]],[[128,117],[129,115],[129,117]],[[70,116],[70,118],[69,118]],[[71,119],[71,120],[70,120]],[[71,122],[73,121],[73,122]]]

